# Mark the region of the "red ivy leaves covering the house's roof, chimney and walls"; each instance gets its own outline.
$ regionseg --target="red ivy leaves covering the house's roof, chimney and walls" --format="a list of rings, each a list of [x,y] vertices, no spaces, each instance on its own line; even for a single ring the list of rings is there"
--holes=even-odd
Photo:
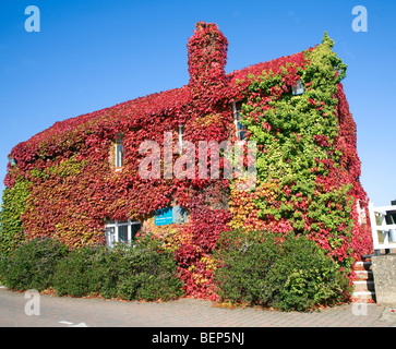
[[[57,122],[16,145],[11,156],[17,166],[9,166],[4,182],[12,186],[22,176],[34,184],[22,217],[27,238],[59,236],[71,246],[103,243],[105,218],[144,220],[155,209],[169,206],[177,200],[190,212],[189,222],[182,229],[192,237],[189,243],[181,243],[176,251],[180,276],[188,294],[212,297],[213,272],[206,268],[203,257],[213,251],[220,232],[229,229],[231,214],[227,206],[221,206],[221,196],[228,195],[228,182],[175,178],[143,180],[137,172],[142,159],[137,149],[146,140],[163,146],[164,132],[173,132],[176,143],[179,124],[184,124],[184,139],[194,143],[211,140],[220,143],[232,137],[231,101],[245,97],[255,104],[254,100],[260,97],[261,103],[254,105],[254,109],[260,107],[264,112],[271,108],[271,100],[287,93],[300,77],[298,68],[303,70],[309,63],[305,53],[299,52],[226,74],[227,45],[226,37],[215,24],[199,23],[188,44],[190,82],[187,86]],[[272,76],[280,74],[281,84],[273,86],[268,96],[248,95],[247,87],[264,70]],[[310,85],[310,82],[305,85],[308,91]],[[343,155],[337,168],[329,159],[317,161],[317,167],[322,164],[328,170],[326,177],[317,176],[317,188],[331,190],[334,183],[352,183],[351,194],[364,206],[367,196],[359,181],[356,124],[340,84],[335,97],[338,99],[339,134],[333,146]],[[312,108],[323,107],[313,99],[309,103]],[[256,112],[250,117],[257,122]],[[262,127],[268,131],[273,128],[269,123]],[[109,152],[117,133],[124,135],[124,166],[119,172],[115,172],[109,164]],[[325,135],[315,135],[314,140],[321,147],[329,146]],[[266,152],[264,147],[260,151]],[[83,164],[81,168],[67,176],[53,171],[73,155],[74,164]],[[289,200],[290,188],[285,188],[284,193]],[[312,231],[307,212],[309,202],[298,194],[296,197],[300,201],[291,204],[302,212],[304,228]],[[275,198],[272,200],[271,204],[280,206]],[[356,215],[355,210],[351,215]],[[252,224],[256,220],[252,219]],[[356,216],[353,220],[357,221]],[[290,221],[285,218],[267,217],[265,226],[279,232],[292,230]],[[326,234],[324,229],[312,231],[312,239],[327,249]],[[338,250],[334,250],[336,257],[343,258],[350,245],[358,252],[367,248],[367,232],[358,224],[353,225],[352,236],[351,242],[345,241]],[[204,281],[196,282],[197,274]]]

